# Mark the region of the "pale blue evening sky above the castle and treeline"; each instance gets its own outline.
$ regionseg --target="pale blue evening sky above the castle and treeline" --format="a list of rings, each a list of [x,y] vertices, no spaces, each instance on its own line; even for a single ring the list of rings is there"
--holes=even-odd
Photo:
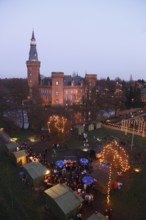
[[[40,72],[146,80],[145,0],[0,0],[0,78],[26,78],[34,29]]]

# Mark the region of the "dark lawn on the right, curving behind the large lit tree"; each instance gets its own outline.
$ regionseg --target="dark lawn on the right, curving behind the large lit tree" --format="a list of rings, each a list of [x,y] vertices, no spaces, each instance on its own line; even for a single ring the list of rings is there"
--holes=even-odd
[[[95,137],[114,136],[126,143],[125,148],[130,157],[131,166],[138,167],[141,172],[129,172],[121,181],[124,182],[121,190],[112,191],[111,205],[114,220],[145,220],[146,207],[146,138],[134,136],[134,146],[131,150],[132,134],[125,135],[124,132],[111,129],[99,129],[90,132],[90,141]],[[135,154],[142,155],[141,162],[134,160]],[[132,169],[131,169],[132,170]]]

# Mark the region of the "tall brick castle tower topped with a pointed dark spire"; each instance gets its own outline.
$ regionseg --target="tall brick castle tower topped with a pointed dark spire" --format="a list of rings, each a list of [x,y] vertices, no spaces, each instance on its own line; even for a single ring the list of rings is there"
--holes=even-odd
[[[33,98],[33,89],[38,89],[39,80],[40,80],[40,61],[38,61],[34,31],[32,32],[29,59],[28,61],[26,61],[26,65],[27,65],[29,96],[30,98]]]

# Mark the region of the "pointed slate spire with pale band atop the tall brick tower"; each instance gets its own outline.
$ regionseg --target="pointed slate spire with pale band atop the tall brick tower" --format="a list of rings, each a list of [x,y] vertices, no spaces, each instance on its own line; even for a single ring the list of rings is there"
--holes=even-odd
[[[36,39],[34,36],[34,30],[32,31],[31,43],[30,43],[30,51],[29,51],[29,61],[37,61],[38,54],[36,49]]]

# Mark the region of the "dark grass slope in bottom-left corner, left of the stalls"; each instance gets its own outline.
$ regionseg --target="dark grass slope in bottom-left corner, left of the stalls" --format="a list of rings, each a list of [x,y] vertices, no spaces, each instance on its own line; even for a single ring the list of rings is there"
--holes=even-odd
[[[43,205],[39,195],[19,179],[19,168],[3,151],[0,141],[0,219],[43,219]]]

